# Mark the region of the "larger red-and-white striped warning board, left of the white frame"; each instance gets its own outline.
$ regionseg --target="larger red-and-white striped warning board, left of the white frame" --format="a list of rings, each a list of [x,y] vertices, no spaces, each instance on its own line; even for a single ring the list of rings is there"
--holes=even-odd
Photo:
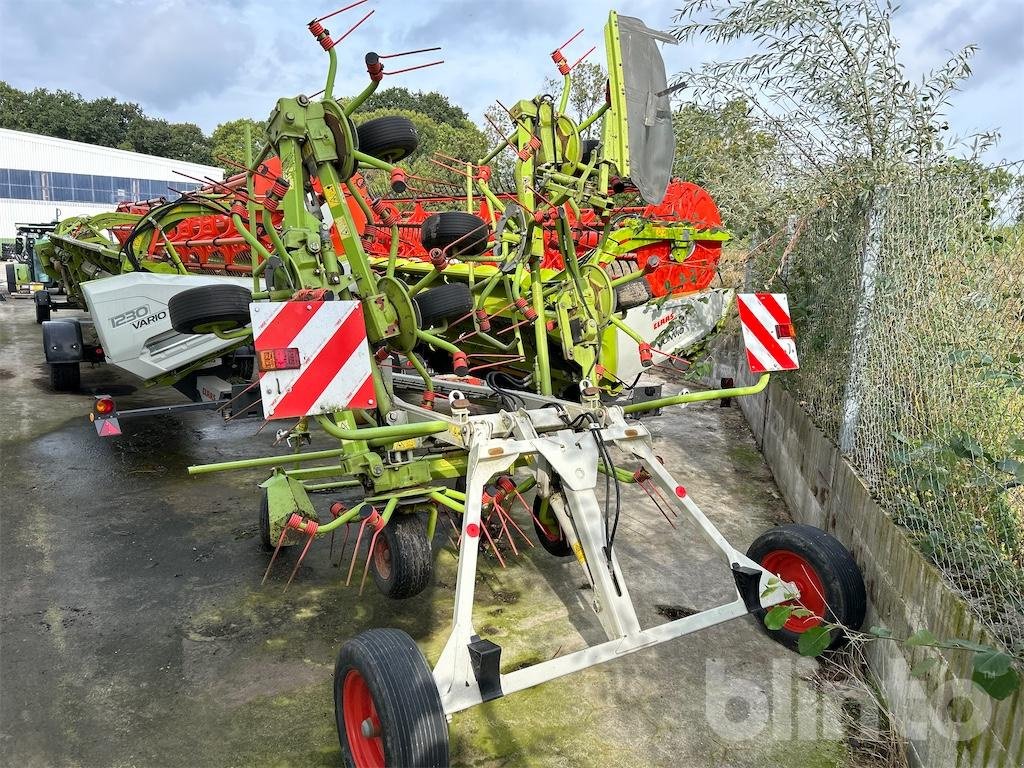
[[[358,301],[256,302],[249,313],[267,419],[374,407]]]

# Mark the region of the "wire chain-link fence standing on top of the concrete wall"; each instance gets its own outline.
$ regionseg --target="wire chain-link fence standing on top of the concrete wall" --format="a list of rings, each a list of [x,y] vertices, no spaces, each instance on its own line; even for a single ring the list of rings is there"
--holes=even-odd
[[[801,369],[780,381],[1024,657],[1024,221],[993,173],[830,202],[752,251],[745,283],[790,296]]]

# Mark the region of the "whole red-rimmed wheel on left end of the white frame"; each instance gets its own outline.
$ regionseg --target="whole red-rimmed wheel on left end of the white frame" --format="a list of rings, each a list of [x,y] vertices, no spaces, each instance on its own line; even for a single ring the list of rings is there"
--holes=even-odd
[[[367,630],[341,646],[334,714],[348,768],[447,768],[447,720],[434,676],[401,630]]]

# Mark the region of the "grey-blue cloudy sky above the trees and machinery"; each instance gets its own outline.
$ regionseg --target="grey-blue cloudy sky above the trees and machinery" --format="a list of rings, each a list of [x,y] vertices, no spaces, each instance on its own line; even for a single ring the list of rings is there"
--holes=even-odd
[[[326,56],[305,24],[342,0],[0,0],[0,79],[31,89],[136,101],[151,116],[204,130],[237,117],[265,117],[274,98],[323,87]],[[361,54],[440,45],[441,67],[385,80],[439,90],[481,122],[490,99],[536,93],[554,68],[548,54],[580,27],[572,61],[600,44],[609,7],[668,28],[672,0],[370,0],[327,23],[337,37],[366,9],[376,13],[341,44],[336,91],[367,82]],[[977,43],[974,77],[950,124],[968,134],[997,128],[991,160],[1024,158],[1024,2],[905,0],[895,33],[911,75]],[[50,26],[50,22],[53,26]],[[600,53],[600,48],[594,56]],[[667,46],[670,75],[721,57],[703,44]],[[432,60],[414,56],[410,65]],[[399,59],[401,60],[401,59]],[[395,63],[394,69],[397,69]]]

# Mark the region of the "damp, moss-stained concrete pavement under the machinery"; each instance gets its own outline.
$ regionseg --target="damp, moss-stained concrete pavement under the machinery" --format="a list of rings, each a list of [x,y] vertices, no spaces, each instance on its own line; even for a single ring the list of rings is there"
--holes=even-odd
[[[81,392],[53,393],[40,346],[31,302],[0,303],[0,764],[340,765],[338,647],[392,626],[436,660],[455,584],[447,531],[434,584],[408,601],[346,589],[326,543],[287,593],[294,553],[260,587],[265,473],[193,479],[185,468],[269,453],[271,430],[191,413],[101,440],[86,418],[94,393],[121,408],[184,399],[102,367],[83,370]],[[786,520],[737,409],[647,423],[735,546]],[[325,517],[332,498],[315,498]],[[644,626],[732,597],[695,530],[671,528],[635,489],[616,547]],[[503,646],[504,670],[603,640],[584,582],[540,547],[505,569],[481,557],[475,624]],[[744,618],[456,715],[453,765],[848,765],[816,671]]]

